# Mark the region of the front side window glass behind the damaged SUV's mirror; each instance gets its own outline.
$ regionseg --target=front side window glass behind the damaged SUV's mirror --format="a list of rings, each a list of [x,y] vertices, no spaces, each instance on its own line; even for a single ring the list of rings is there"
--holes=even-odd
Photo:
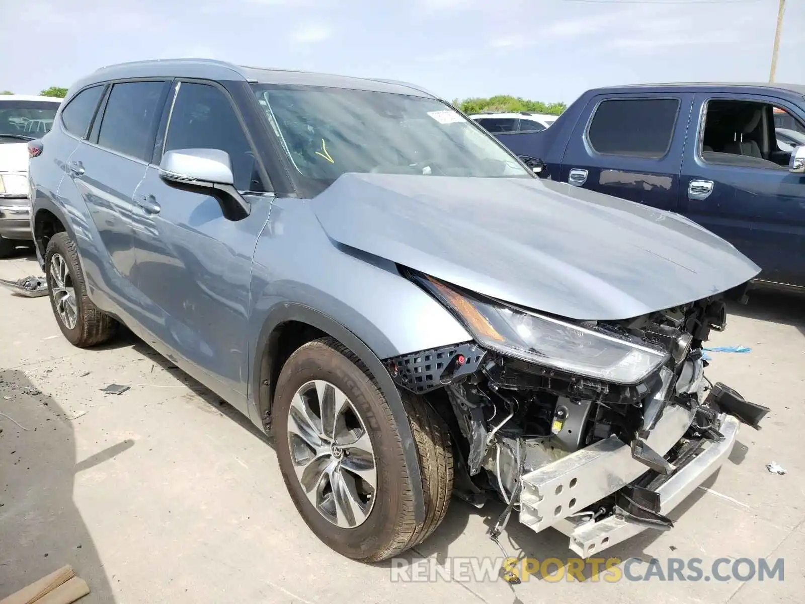
[[[229,153],[235,188],[263,192],[254,152],[221,90],[215,86],[182,82],[165,136],[165,151],[220,149]]]

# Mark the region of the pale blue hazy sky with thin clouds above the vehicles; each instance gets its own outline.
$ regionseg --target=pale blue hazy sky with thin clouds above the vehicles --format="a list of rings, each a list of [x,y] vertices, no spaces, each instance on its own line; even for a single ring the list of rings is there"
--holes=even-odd
[[[778,0],[0,0],[0,89],[205,56],[416,82],[450,99],[572,101],[652,81],[767,81]],[[778,81],[805,82],[805,0]],[[16,49],[11,52],[10,49]]]

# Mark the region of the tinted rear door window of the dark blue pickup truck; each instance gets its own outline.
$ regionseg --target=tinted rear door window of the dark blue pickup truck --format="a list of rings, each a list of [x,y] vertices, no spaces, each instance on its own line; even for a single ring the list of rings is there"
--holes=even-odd
[[[671,147],[679,99],[603,101],[587,136],[594,151],[658,159]]]

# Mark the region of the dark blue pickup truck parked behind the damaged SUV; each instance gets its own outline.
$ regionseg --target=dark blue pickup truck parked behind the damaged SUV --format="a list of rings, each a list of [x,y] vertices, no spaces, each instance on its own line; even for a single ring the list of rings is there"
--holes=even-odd
[[[589,90],[540,132],[495,134],[540,176],[683,214],[805,292],[805,85]]]

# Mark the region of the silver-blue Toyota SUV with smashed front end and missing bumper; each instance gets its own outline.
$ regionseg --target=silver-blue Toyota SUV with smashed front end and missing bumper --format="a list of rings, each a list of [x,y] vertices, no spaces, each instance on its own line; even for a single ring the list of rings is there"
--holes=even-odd
[[[411,548],[452,495],[600,552],[671,527],[768,411],[703,374],[757,266],[414,86],[122,64],[28,147],[64,336],[125,324],[249,416],[345,556]]]

